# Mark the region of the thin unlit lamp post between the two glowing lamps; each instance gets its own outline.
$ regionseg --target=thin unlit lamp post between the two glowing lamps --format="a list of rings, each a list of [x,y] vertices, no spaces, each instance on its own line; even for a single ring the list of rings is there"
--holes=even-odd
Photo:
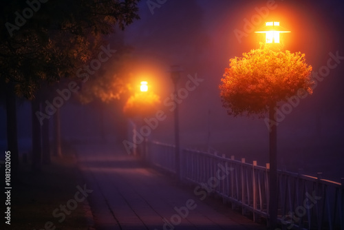
[[[174,96],[178,96],[178,82],[180,80],[180,73],[182,69],[179,65],[171,65],[171,79],[174,85]],[[181,180],[180,175],[180,143],[179,143],[179,116],[178,103],[175,103],[174,109],[174,140],[175,140],[175,174],[178,180]]]

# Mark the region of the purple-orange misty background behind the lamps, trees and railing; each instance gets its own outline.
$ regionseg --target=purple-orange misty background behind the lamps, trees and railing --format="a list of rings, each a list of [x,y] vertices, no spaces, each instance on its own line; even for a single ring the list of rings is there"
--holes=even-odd
[[[200,79],[179,105],[180,140],[183,148],[211,154],[234,155],[246,162],[268,163],[268,127],[264,119],[228,116],[222,107],[218,86],[228,60],[259,48],[259,35],[248,32],[241,39],[235,30],[245,31],[245,20],[258,14],[255,8],[268,1],[166,1],[149,9],[140,3],[139,21],[117,32],[132,48],[133,74],[147,76],[151,90],[164,102],[173,92],[171,65],[183,69],[178,87],[190,79]],[[327,65],[330,53],[344,56],[343,3],[341,1],[276,1],[264,21],[281,21],[292,32],[283,38],[286,50],[305,53],[318,72]],[[153,14],[152,14],[153,12]],[[260,25],[255,26],[259,29]],[[117,36],[116,34],[114,36]],[[111,37],[110,37],[111,39]],[[286,114],[277,127],[278,165],[288,171],[302,168],[311,176],[339,181],[344,177],[344,60],[319,82],[311,96]],[[107,70],[106,68],[109,68]],[[105,66],[110,71],[111,64]],[[129,137],[130,122],[122,114],[126,98],[104,105],[80,105],[67,101],[61,107],[61,136],[66,148],[76,142],[118,142]],[[1,145],[6,146],[6,112],[1,112]],[[149,140],[174,143],[173,112],[160,107],[166,119],[153,129]],[[30,103],[18,102],[19,153],[29,153],[31,145]],[[155,116],[149,116],[151,118]],[[141,118],[143,120],[143,118]],[[52,119],[50,119],[52,124]]]

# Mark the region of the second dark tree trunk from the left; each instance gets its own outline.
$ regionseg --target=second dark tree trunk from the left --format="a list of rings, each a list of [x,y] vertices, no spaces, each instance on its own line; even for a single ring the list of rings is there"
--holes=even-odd
[[[32,101],[32,171],[38,173],[42,167],[41,123],[36,112],[41,110],[41,98],[37,96]]]

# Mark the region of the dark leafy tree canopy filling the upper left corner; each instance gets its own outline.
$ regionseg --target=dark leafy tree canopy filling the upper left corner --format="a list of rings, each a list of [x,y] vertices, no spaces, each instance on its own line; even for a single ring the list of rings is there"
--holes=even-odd
[[[30,9],[27,2],[33,1],[0,3],[0,82],[15,83],[17,94],[26,98],[33,98],[43,81],[75,76],[75,69],[93,58],[104,34],[138,19],[138,0],[36,1],[38,10],[18,25],[15,12]],[[9,32],[6,23],[17,29]]]

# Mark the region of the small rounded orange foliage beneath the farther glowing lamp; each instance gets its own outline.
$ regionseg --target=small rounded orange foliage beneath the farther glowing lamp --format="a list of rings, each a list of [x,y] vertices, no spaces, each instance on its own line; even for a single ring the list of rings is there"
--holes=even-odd
[[[160,98],[153,92],[140,92],[129,97],[123,112],[126,116],[149,116],[158,110]]]

